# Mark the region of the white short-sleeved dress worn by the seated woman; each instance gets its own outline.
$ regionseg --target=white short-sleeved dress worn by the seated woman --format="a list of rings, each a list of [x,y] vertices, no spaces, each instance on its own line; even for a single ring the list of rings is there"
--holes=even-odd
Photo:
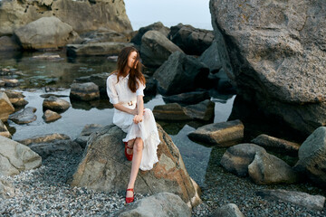
[[[144,96],[145,86],[139,82],[139,88],[133,93],[128,87],[129,75],[125,78],[120,77],[117,83],[117,75],[111,74],[107,79],[107,93],[110,103],[117,104],[123,102],[123,106],[129,109],[135,109],[137,96]],[[160,143],[158,137],[158,127],[155,118],[150,109],[144,109],[143,121],[139,124],[133,122],[133,115],[114,109],[113,124],[120,127],[127,136],[122,139],[128,142],[130,139],[140,137],[144,142],[141,162],[139,168],[141,170],[150,170],[153,165],[158,162],[157,149]]]

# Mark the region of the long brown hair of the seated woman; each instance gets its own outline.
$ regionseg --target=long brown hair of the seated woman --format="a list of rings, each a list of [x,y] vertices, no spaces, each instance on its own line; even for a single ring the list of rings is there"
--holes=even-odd
[[[135,63],[138,62],[136,69],[135,67],[131,67],[130,71],[129,71],[129,80],[128,80],[128,87],[132,92],[136,92],[136,90],[139,87],[139,81],[145,85],[146,80],[144,75],[141,73],[141,68],[142,68],[142,64],[140,63],[140,57],[139,57],[139,52],[137,51],[136,48],[134,47],[126,47],[124,49],[122,49],[122,51],[119,53],[118,56],[118,62],[117,62],[117,78],[118,78],[118,82],[119,82],[119,77],[120,76],[127,76],[126,72],[125,72],[125,68],[128,64],[128,59],[129,59],[129,55],[131,52],[137,52],[137,57],[135,60]]]

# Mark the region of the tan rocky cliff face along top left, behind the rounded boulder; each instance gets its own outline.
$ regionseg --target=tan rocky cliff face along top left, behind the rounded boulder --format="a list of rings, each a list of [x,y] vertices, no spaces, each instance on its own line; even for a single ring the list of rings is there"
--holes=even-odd
[[[0,35],[14,30],[41,17],[55,16],[72,26],[77,33],[86,33],[100,27],[118,33],[132,30],[123,0],[3,0],[0,5]]]

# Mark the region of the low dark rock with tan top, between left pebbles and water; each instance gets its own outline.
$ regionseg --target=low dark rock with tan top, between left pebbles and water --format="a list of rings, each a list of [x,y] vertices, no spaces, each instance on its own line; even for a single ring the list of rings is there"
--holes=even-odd
[[[73,154],[82,151],[79,144],[75,143],[70,137],[64,134],[35,136],[20,140],[19,142],[29,146],[34,152],[42,156],[43,159],[60,153]]]

